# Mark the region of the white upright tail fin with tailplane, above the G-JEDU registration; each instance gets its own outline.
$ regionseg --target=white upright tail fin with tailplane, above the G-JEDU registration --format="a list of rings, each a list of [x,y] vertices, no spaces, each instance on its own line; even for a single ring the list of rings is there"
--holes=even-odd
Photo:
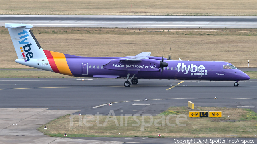
[[[13,41],[18,59],[46,59],[46,55],[31,32],[31,24],[5,24]]]

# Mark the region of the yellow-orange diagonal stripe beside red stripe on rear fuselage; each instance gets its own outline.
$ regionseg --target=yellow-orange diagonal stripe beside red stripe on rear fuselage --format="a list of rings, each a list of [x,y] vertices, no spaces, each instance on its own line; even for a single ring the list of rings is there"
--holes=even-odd
[[[63,53],[50,51],[61,74],[73,76]]]

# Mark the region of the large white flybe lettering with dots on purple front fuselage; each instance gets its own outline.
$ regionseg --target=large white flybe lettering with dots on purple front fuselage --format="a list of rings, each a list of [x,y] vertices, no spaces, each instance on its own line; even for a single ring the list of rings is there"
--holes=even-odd
[[[194,65],[193,63],[191,63],[191,65],[185,65],[184,63],[178,63],[177,65],[177,71],[178,72],[184,72],[184,74],[188,74],[188,72],[190,71],[191,75],[196,75],[197,73],[196,72],[199,72],[199,73],[205,73],[205,75],[207,75],[207,70],[205,70],[205,67],[204,65],[199,65],[199,66],[196,66]]]

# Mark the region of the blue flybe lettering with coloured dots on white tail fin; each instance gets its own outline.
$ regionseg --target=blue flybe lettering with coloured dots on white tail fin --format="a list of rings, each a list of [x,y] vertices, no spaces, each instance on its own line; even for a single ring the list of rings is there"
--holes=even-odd
[[[25,42],[28,39],[26,37],[29,36],[28,31],[23,30],[22,32],[18,33],[18,35],[20,36],[19,44],[26,44],[20,47],[20,49],[22,52],[21,54],[23,55],[23,58],[24,58],[24,62],[27,62],[29,61],[29,59],[33,57],[33,53],[29,52],[31,50],[30,48],[31,43],[29,44],[29,42]]]

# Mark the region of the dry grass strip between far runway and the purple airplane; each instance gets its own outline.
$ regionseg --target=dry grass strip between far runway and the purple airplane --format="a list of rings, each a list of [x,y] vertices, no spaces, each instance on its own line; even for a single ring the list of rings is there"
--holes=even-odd
[[[148,51],[152,52],[152,56],[161,57],[164,50],[167,57],[171,47],[171,58],[175,60],[181,58],[197,61],[227,61],[236,67],[247,67],[250,60],[250,67],[257,67],[257,32],[162,31],[167,29],[159,29],[157,32],[58,31],[57,28],[32,30],[43,49],[71,55],[123,57]],[[29,68],[14,62],[17,55],[9,33],[3,27],[0,28],[0,48],[2,55],[0,68]]]

